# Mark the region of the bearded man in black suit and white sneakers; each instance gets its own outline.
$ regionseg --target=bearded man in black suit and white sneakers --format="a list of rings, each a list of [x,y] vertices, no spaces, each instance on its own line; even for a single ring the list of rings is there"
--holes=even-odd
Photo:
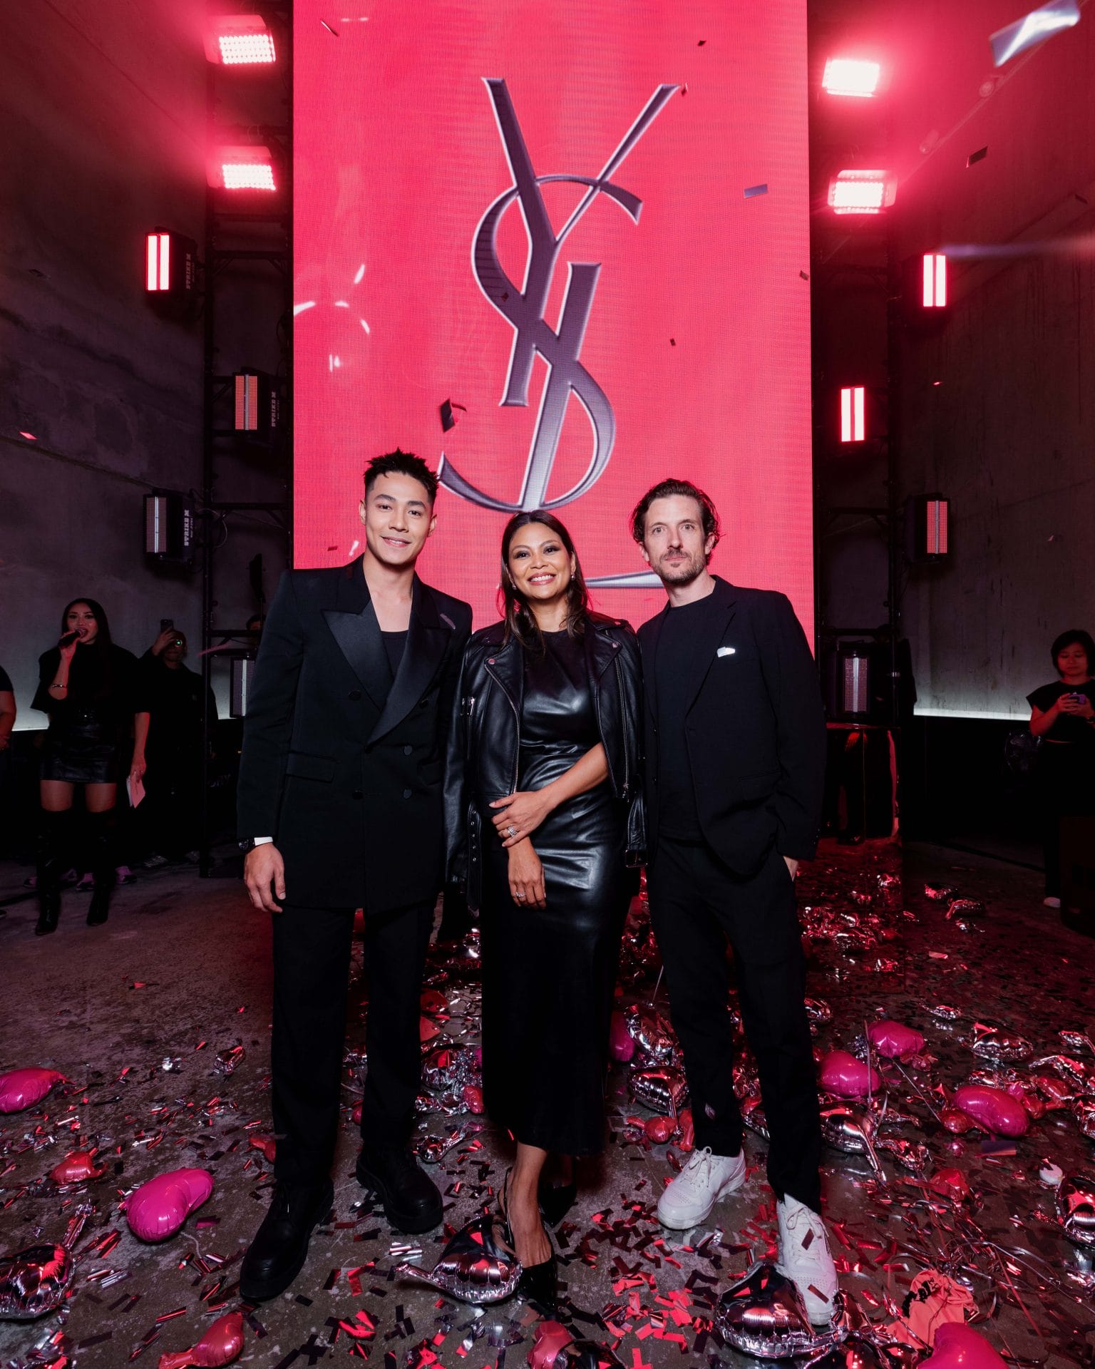
[[[757,1057],[780,1264],[812,1321],[836,1273],[819,1216],[821,1132],[794,876],[813,856],[825,726],[813,657],[788,600],[713,576],[712,501],[662,481],[632,534],[669,602],[639,628],[646,691],[647,882],[695,1150],[658,1202],[673,1229],[705,1221],[745,1181],[734,1092],[727,942]]]

